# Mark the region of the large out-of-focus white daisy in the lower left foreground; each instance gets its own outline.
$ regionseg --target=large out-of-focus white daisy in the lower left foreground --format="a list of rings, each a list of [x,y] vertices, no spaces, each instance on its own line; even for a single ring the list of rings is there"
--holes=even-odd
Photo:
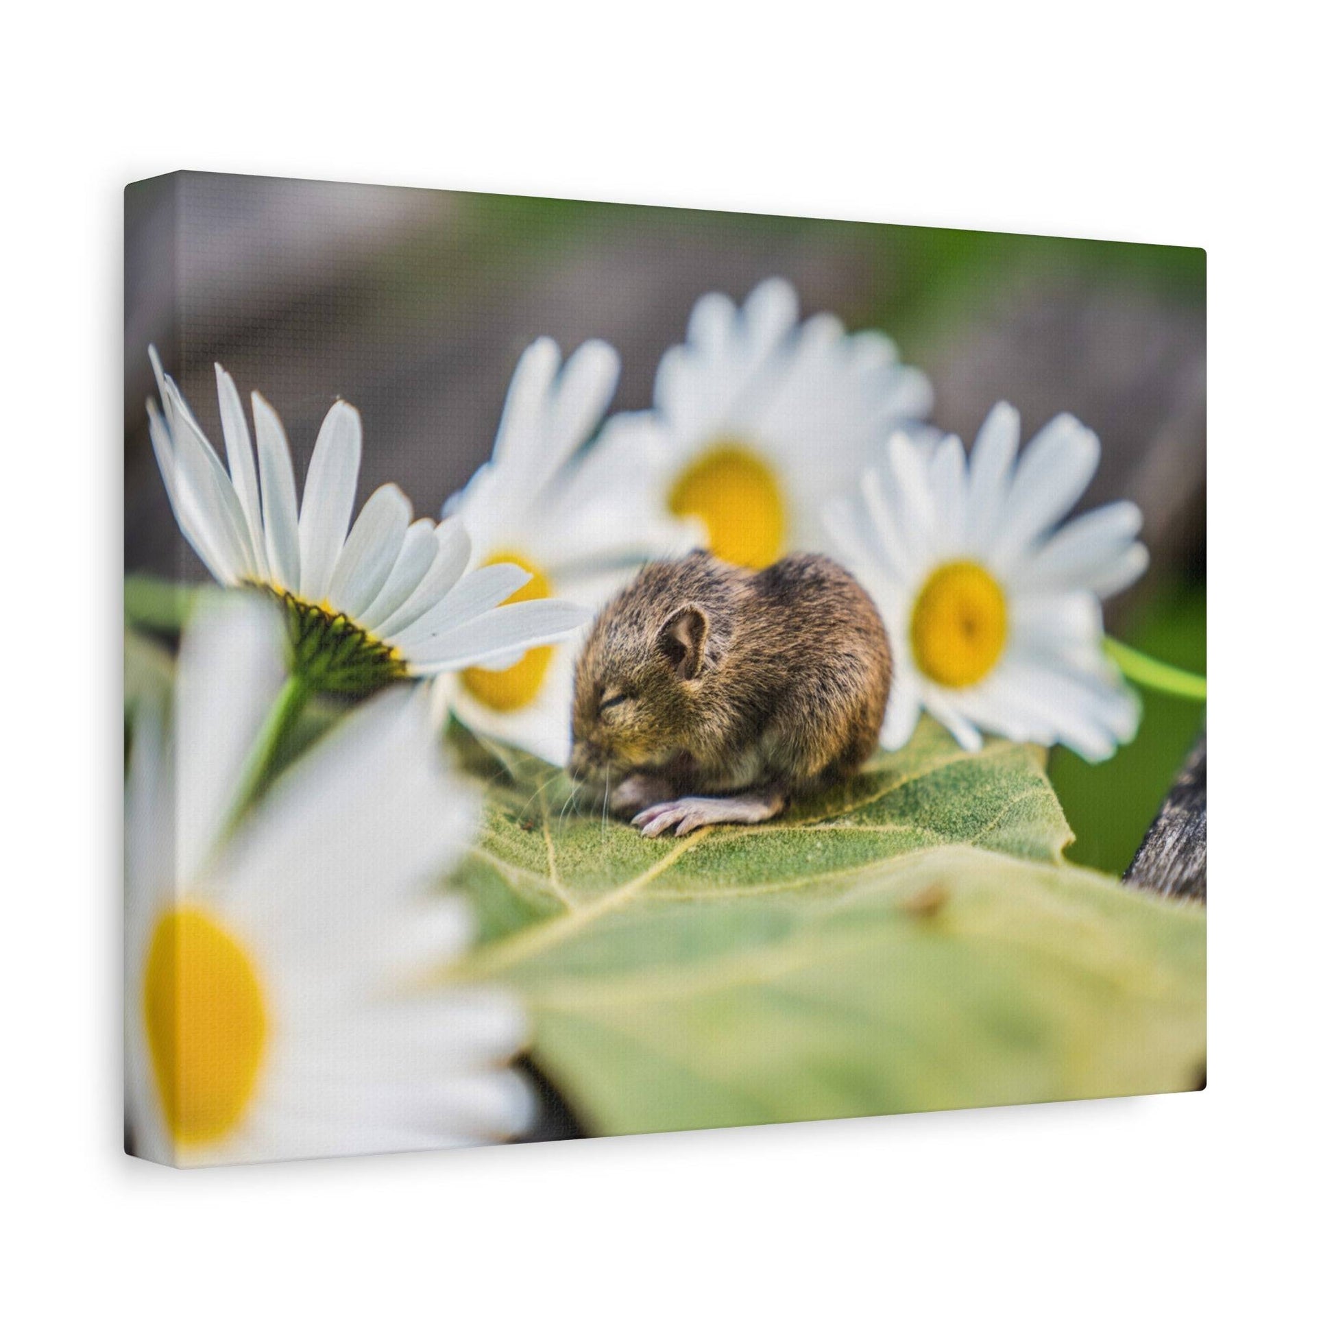
[[[125,1097],[137,1154],[176,1166],[498,1141],[532,1098],[503,991],[428,987],[471,918],[431,880],[476,796],[422,691],[386,691],[236,827],[283,684],[281,618],[211,599],[188,626],[171,731],[141,706],[125,810]]]

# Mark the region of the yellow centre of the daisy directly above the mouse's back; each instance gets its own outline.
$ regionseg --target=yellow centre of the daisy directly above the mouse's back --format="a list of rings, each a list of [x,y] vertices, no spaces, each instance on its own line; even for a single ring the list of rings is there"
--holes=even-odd
[[[787,510],[774,470],[735,440],[718,440],[676,479],[672,514],[704,522],[708,546],[732,564],[762,570],[783,552]]]

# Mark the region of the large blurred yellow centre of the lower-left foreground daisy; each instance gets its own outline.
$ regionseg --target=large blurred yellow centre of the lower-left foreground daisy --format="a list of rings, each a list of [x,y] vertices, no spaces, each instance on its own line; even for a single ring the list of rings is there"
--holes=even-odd
[[[249,955],[199,908],[165,912],[148,946],[143,1002],[172,1135],[204,1143],[227,1134],[255,1089],[268,1030]]]

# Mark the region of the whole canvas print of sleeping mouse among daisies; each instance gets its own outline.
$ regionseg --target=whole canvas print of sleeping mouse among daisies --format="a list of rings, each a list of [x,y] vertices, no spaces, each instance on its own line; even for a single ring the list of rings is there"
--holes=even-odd
[[[1203,1087],[1201,251],[199,172],[125,251],[131,1153]]]

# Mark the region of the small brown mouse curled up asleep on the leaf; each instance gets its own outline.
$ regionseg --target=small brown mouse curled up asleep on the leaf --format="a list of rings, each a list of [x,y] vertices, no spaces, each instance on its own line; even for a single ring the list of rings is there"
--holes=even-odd
[[[860,768],[891,678],[875,603],[827,556],[655,560],[584,640],[568,772],[648,838],[759,824]]]

